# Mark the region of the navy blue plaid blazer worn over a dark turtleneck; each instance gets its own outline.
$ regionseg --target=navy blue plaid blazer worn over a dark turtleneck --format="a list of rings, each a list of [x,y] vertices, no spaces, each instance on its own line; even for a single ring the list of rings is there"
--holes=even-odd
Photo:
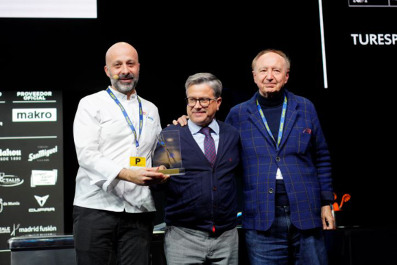
[[[313,103],[285,93],[287,115],[278,151],[258,112],[258,93],[234,106],[226,117],[240,135],[245,229],[271,227],[277,168],[284,178],[291,222],[298,229],[322,227],[321,200],[334,199],[330,154]]]

